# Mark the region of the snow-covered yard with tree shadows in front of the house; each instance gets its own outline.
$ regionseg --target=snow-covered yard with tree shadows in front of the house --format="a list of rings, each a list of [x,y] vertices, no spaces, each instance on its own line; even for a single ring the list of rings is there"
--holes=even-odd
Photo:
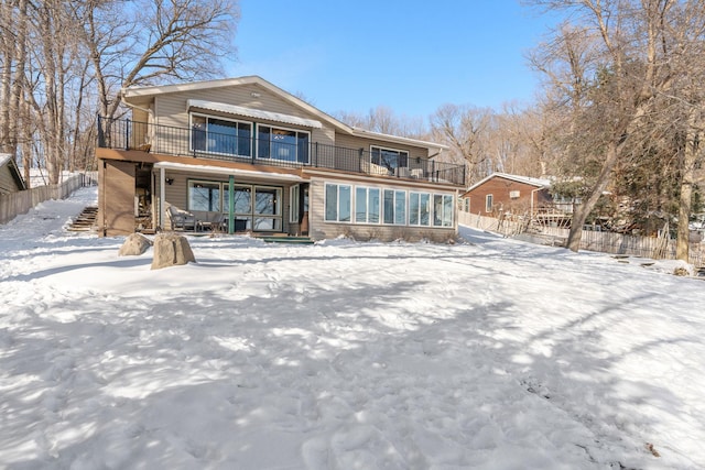
[[[0,226],[0,468],[705,468],[705,283],[672,265],[462,229],[151,271],[64,230],[95,200]]]

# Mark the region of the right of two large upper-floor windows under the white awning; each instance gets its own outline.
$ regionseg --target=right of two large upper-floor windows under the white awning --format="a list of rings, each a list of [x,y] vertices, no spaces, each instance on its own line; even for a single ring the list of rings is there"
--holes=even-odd
[[[258,125],[257,157],[308,163],[308,132]]]

